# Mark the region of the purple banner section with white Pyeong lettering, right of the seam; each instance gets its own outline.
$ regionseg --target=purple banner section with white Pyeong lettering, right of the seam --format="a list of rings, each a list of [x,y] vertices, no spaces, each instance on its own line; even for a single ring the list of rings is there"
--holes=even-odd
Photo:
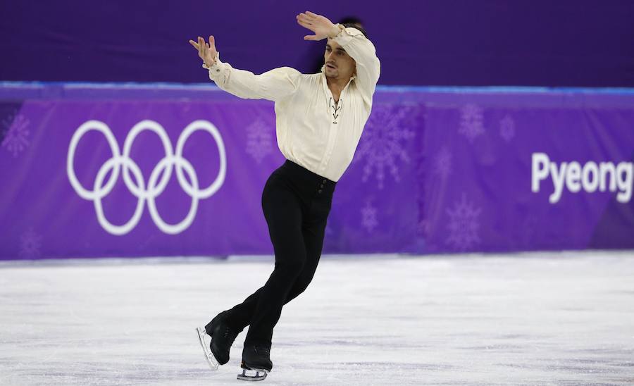
[[[427,104],[424,250],[634,247],[633,101],[553,91]]]

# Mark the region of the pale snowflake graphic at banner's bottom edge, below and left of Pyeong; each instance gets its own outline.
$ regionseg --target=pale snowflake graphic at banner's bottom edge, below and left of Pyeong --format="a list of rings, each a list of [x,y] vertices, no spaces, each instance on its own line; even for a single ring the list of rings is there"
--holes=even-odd
[[[445,241],[450,247],[466,251],[480,242],[478,216],[481,212],[482,208],[475,208],[467,201],[466,194],[462,194],[461,200],[452,209],[447,209],[449,237]]]

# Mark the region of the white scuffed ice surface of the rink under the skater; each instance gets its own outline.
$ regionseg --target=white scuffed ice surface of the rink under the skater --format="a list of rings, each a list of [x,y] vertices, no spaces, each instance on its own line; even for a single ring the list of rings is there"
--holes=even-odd
[[[194,328],[271,258],[0,264],[0,385],[245,385]],[[634,252],[323,256],[261,385],[634,384]]]

